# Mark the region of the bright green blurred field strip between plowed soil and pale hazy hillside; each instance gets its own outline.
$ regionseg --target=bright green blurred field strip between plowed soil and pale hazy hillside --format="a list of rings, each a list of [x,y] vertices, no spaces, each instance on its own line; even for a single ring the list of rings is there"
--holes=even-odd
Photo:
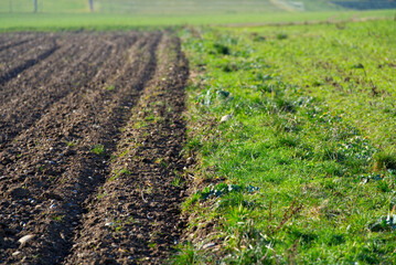
[[[131,30],[182,25],[259,25],[364,18],[393,18],[393,10],[327,12],[240,12],[196,14],[1,13],[0,31]]]

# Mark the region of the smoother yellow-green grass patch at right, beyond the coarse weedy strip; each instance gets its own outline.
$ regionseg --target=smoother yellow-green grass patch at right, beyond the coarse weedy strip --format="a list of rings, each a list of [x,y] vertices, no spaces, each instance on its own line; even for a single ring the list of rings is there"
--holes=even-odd
[[[244,34],[246,44],[266,51],[265,60],[282,81],[324,100],[376,145],[396,144],[395,21],[237,32]],[[288,39],[275,40],[279,32]],[[251,34],[268,41],[255,42]]]

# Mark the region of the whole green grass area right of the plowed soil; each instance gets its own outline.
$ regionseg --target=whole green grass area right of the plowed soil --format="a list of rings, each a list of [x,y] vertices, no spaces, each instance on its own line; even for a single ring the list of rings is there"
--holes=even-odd
[[[395,261],[392,32],[394,21],[180,32],[199,167],[172,263]]]

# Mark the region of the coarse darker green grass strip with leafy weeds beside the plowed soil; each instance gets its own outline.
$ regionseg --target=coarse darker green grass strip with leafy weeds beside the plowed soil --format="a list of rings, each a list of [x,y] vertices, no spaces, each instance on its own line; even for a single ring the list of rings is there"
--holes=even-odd
[[[394,146],[281,76],[258,44],[267,36],[250,33],[180,32],[193,72],[185,152],[197,162],[186,169],[190,223],[171,263],[392,264]],[[272,34],[271,46],[290,34]]]

